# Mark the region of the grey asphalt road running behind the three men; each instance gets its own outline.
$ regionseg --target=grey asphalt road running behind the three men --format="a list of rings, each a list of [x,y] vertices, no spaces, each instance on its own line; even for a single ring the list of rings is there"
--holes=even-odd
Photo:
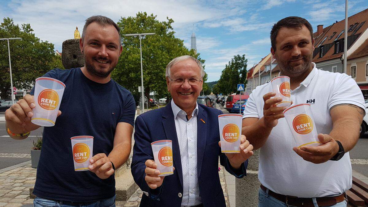
[[[229,113],[221,105],[216,104],[215,108]],[[36,136],[41,136],[42,131],[43,127],[40,127],[32,131],[30,137],[24,140],[14,140],[6,132],[4,113],[0,113],[0,169],[31,160],[29,154],[33,146],[32,141],[36,139]],[[19,154],[9,155],[5,153]],[[349,154],[352,159],[352,168],[368,177],[368,133],[365,133],[364,137],[358,140]]]

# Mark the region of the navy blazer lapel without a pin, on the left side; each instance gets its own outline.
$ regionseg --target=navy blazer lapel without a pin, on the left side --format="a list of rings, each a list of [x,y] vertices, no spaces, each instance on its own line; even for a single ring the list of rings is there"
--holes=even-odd
[[[171,100],[172,101],[172,100]],[[162,113],[163,128],[165,130],[166,138],[172,141],[173,144],[173,159],[174,159],[174,173],[178,173],[180,184],[183,187],[183,171],[181,168],[181,157],[178,137],[176,134],[175,120],[173,110],[171,108],[171,102],[167,103]]]

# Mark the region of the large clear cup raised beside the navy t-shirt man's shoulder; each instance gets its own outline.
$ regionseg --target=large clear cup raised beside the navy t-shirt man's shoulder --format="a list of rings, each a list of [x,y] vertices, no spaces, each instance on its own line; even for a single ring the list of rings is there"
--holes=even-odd
[[[65,84],[59,80],[49,77],[36,79],[35,104],[31,122],[39,126],[54,126],[57,112],[60,108]]]

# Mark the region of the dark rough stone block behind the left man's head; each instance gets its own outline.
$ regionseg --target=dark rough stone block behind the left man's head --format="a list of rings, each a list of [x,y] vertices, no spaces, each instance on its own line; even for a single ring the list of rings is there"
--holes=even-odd
[[[63,42],[61,61],[65,69],[84,66],[84,57],[79,49],[79,39],[67,39]]]

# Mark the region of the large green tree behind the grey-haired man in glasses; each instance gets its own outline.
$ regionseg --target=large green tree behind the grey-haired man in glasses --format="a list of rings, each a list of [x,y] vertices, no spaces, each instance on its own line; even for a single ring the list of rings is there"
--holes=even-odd
[[[136,101],[140,97],[138,86],[141,85],[139,38],[137,36],[124,36],[124,34],[156,33],[156,35],[142,37],[143,81],[146,97],[149,97],[150,91],[155,91],[156,99],[170,98],[166,87],[165,70],[167,63],[174,57],[191,55],[202,64],[205,62],[199,57],[199,53],[196,54],[194,50],[185,48],[183,40],[174,36],[175,32],[171,27],[173,22],[174,20],[168,17],[166,21],[159,21],[156,19],[156,15],[147,15],[145,12],[139,12],[135,17],[121,17],[117,22],[121,29],[123,52],[112,77],[130,90]],[[204,77],[204,81],[206,80],[207,74]]]

